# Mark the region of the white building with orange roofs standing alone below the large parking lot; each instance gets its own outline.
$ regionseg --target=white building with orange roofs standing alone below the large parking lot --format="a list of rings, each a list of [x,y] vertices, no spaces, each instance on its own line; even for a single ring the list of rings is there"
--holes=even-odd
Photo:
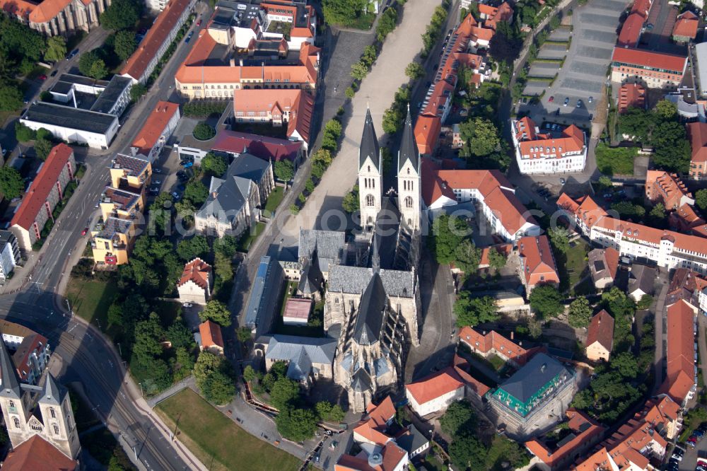
[[[559,136],[541,133],[529,117],[511,120],[515,160],[520,173],[572,173],[584,170],[587,161],[585,133],[574,124]]]

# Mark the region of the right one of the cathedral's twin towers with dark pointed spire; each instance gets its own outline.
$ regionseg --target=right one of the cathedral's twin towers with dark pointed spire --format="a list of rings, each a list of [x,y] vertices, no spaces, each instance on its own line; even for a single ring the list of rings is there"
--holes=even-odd
[[[415,144],[415,136],[410,119],[410,105],[402,131],[402,141],[398,151],[398,209],[400,225],[411,233],[420,230],[420,156]]]

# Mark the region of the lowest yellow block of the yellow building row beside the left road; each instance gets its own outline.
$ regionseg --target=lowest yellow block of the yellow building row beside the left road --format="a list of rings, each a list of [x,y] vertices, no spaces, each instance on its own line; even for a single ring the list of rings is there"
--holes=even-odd
[[[98,264],[120,265],[128,262],[135,238],[132,219],[109,217],[98,222],[91,231],[93,260]]]

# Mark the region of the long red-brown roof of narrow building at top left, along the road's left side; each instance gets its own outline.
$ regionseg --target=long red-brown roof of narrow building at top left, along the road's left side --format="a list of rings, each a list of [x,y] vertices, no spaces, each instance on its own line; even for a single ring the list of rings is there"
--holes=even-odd
[[[139,80],[145,74],[148,65],[158,54],[165,41],[168,41],[170,33],[176,28],[182,13],[189,8],[191,1],[170,0],[147,31],[137,50],[125,62],[120,71],[121,75],[128,75]]]

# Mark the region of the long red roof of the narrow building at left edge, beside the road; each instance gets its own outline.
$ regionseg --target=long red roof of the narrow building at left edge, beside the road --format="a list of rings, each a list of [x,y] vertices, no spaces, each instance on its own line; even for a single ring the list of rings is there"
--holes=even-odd
[[[66,164],[69,163],[69,159],[73,155],[74,149],[71,149],[66,144],[54,146],[30,185],[29,192],[22,199],[20,207],[10,222],[11,226],[17,225],[26,230],[32,227],[37,218],[37,213],[44,207],[49,193],[52,192],[52,188],[59,180],[59,175],[62,175],[62,171],[64,171]]]

